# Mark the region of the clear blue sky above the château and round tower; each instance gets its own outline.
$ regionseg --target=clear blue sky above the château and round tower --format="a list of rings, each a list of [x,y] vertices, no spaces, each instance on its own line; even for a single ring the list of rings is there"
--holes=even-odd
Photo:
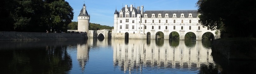
[[[83,4],[86,5],[88,14],[91,15],[90,22],[100,25],[114,26],[115,9],[121,10],[122,5],[132,4],[134,7],[144,6],[144,10],[197,10],[195,7],[198,0],[66,0],[74,9],[74,19],[81,11]]]

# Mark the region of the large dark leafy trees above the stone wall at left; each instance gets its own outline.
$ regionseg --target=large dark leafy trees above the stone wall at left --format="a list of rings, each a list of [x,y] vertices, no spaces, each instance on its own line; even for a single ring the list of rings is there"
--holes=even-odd
[[[2,0],[0,31],[66,32],[73,8],[65,0]]]

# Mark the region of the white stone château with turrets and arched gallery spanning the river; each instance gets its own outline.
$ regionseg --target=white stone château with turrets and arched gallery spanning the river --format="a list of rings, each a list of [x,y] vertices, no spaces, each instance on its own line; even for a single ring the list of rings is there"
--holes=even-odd
[[[216,36],[216,30],[203,28],[198,21],[198,10],[159,10],[145,11],[143,6],[133,7],[125,5],[114,13],[114,30],[112,38],[124,39],[156,39],[157,32],[164,33],[164,39],[169,39],[173,32],[179,33],[179,39],[184,40],[185,34],[193,32],[197,40],[202,35],[211,32]],[[220,33],[218,33],[220,34]],[[215,37],[217,39],[217,37]]]

